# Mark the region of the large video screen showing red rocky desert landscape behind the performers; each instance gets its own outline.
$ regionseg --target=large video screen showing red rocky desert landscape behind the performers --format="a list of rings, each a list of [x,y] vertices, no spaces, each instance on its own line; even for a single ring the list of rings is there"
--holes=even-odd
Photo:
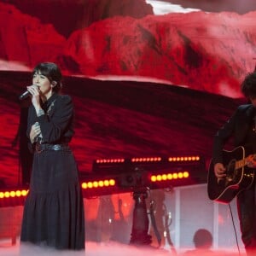
[[[44,61],[61,67],[63,93],[73,97],[81,173],[96,159],[208,162],[215,132],[245,102],[255,15],[255,3],[240,0],[1,0],[0,186],[22,183],[30,102],[18,97]]]

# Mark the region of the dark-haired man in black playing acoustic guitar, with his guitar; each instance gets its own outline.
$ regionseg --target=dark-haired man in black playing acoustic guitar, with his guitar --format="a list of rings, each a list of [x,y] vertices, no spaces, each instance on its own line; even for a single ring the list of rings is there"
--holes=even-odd
[[[208,172],[211,200],[229,203],[235,196],[241,239],[248,256],[256,255],[256,72],[248,73],[241,92],[249,101],[241,105],[221,127],[213,140]],[[232,137],[235,148],[224,150]]]

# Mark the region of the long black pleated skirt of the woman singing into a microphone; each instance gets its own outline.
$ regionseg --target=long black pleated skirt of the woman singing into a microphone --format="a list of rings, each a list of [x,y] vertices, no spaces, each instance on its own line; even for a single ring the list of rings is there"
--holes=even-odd
[[[84,249],[84,201],[71,151],[34,154],[20,241]]]

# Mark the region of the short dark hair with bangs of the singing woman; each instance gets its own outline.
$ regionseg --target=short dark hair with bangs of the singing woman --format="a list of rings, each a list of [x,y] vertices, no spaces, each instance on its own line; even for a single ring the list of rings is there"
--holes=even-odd
[[[53,87],[53,91],[59,92],[61,90],[62,74],[61,74],[60,68],[55,63],[53,62],[39,63],[36,67],[34,67],[32,71],[32,75],[38,72],[40,72],[47,79],[49,79],[50,83],[52,83],[53,81],[56,82],[55,87]]]

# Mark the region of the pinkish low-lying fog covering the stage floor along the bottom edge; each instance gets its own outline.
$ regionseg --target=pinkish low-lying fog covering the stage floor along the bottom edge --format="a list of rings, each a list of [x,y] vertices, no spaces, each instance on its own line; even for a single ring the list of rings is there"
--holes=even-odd
[[[33,246],[20,246],[17,242],[15,246],[10,245],[9,241],[0,240],[0,255],[1,256],[166,256],[166,255],[179,255],[179,256],[246,256],[244,252],[240,254],[236,249],[227,250],[166,250],[164,248],[155,247],[134,247],[130,245],[119,244],[109,241],[108,243],[86,242],[85,252],[73,251],[54,251],[49,248],[33,247]],[[256,255],[256,254],[255,254]]]

